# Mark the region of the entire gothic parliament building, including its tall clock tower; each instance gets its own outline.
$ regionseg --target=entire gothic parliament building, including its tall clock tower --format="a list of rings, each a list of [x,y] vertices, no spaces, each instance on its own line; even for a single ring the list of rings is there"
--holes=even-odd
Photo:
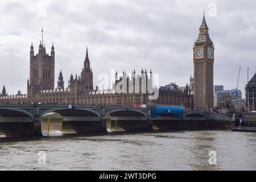
[[[125,71],[122,77],[115,73],[112,89],[99,90],[93,85],[93,71],[90,67],[88,48],[86,48],[82,71],[79,76],[71,75],[67,88],[64,87],[63,73],[60,71],[55,87],[55,47],[52,44],[48,54],[42,42],[35,54],[34,46],[30,47],[30,75],[27,80],[27,94],[16,95],[6,93],[3,86],[0,103],[5,104],[78,104],[78,105],[182,105],[189,109],[213,108],[213,61],[214,47],[209,38],[209,28],[203,17],[199,29],[199,37],[193,46],[194,78],[193,84],[179,87],[175,83],[158,88],[158,97],[149,100],[152,93],[143,92],[143,88],[152,85],[152,71],[132,71],[131,77]],[[138,84],[135,80],[138,80]],[[122,90],[132,92],[116,92],[119,82],[127,82]],[[129,84],[128,84],[129,83]],[[129,88],[131,87],[131,88]],[[147,89],[146,89],[147,91]]]

